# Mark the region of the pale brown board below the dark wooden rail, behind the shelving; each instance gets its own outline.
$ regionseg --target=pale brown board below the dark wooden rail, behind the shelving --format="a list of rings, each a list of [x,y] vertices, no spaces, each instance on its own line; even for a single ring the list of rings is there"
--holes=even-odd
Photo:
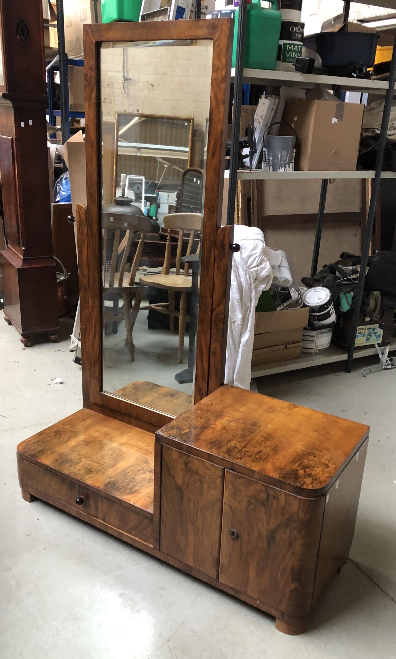
[[[315,229],[314,224],[263,227],[266,244],[272,249],[281,249],[286,252],[294,282],[299,286],[301,286],[301,277],[307,277],[310,274]],[[324,264],[336,261],[341,252],[360,254],[360,223],[324,223],[318,270]]]

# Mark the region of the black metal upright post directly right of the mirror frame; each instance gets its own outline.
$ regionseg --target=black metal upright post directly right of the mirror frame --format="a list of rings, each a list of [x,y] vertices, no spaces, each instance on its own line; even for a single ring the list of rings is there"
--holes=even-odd
[[[241,125],[241,105],[243,88],[243,61],[245,59],[247,0],[239,1],[238,28],[234,78],[234,117],[231,130],[230,179],[228,181],[227,224],[234,224],[235,194],[237,186],[239,131]]]

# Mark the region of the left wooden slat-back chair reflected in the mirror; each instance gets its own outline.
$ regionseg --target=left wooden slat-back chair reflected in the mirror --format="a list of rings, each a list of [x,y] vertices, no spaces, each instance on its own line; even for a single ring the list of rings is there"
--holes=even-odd
[[[134,217],[133,215],[116,217],[114,215],[112,219],[107,217],[106,214],[103,214],[103,297],[104,299],[113,299],[114,295],[111,296],[111,293],[116,294],[116,304],[117,308],[114,311],[114,302],[113,308],[104,306],[103,310],[103,322],[118,322],[118,320],[124,318],[125,320],[125,345],[128,346],[128,352],[130,358],[134,361],[135,347],[134,342],[132,341],[132,325],[131,325],[131,294],[136,293],[137,287],[135,284],[137,268],[139,267],[139,261],[141,258],[141,253],[143,252],[143,244],[145,241],[145,233],[152,230],[152,223],[147,217]],[[114,241],[112,243],[112,252],[111,252],[111,261],[109,272],[106,268],[106,253],[107,253],[107,233],[109,230],[114,229]],[[126,230],[126,234],[121,239],[121,231]],[[136,232],[139,232],[140,239],[137,245],[136,253],[130,270],[128,272],[128,256],[130,254],[130,249],[132,241],[134,240],[134,235]],[[118,310],[118,294],[122,295],[122,309]]]

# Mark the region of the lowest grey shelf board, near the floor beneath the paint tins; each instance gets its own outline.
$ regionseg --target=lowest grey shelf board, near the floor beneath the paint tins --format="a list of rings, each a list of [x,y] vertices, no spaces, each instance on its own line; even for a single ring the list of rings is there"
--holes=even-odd
[[[391,339],[391,347],[389,351],[396,350],[396,337]],[[370,357],[376,355],[375,345],[369,348],[355,350],[353,358]],[[289,359],[284,362],[275,362],[274,364],[267,364],[266,366],[253,366],[251,374],[252,378],[261,378],[266,375],[273,375],[274,373],[285,373],[291,370],[299,370],[300,368],[310,368],[310,366],[321,366],[322,364],[332,364],[333,362],[346,361],[348,353],[335,345],[330,345],[326,350],[316,353],[316,355],[308,355],[301,353],[297,359]]]

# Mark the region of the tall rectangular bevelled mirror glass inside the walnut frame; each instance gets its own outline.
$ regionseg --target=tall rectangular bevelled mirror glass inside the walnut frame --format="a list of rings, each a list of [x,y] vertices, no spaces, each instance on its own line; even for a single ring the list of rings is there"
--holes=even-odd
[[[103,391],[192,404],[212,41],[101,45]]]

